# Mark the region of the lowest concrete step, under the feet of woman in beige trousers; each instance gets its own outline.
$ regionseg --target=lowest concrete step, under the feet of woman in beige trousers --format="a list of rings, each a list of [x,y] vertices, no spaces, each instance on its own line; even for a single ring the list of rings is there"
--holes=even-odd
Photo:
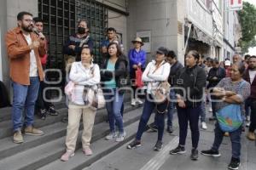
[[[151,119],[153,121],[153,119]],[[69,161],[63,162],[57,159],[44,167],[38,168],[38,170],[81,170],[84,167],[90,166],[90,164],[98,161],[103,156],[107,156],[113,150],[117,150],[123,144],[127,143],[131,139],[135,138],[137,133],[138,121],[131,123],[129,126],[125,127],[125,140],[122,142],[107,141],[105,139],[99,139],[93,144],[91,144],[91,150],[93,150],[92,156],[84,156],[82,149],[76,150],[75,156],[73,156]]]

